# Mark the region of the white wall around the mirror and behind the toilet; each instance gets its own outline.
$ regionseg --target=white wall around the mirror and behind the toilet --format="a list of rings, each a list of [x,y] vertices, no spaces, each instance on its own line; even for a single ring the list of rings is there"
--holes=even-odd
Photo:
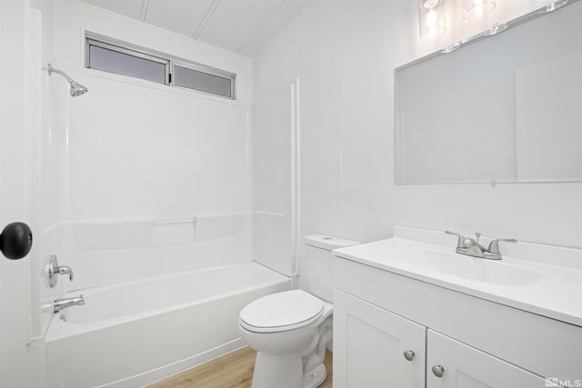
[[[256,100],[301,78],[301,235],[366,242],[401,224],[582,247],[582,184],[394,184],[394,68],[544,2],[497,1],[476,24],[454,22],[460,4],[421,42],[416,2],[319,1],[256,55]]]

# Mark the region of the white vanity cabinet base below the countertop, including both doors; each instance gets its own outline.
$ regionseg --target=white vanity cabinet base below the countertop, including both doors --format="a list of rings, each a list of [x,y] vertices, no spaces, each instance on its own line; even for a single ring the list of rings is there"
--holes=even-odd
[[[334,387],[542,388],[545,377],[582,377],[580,325],[336,257]]]

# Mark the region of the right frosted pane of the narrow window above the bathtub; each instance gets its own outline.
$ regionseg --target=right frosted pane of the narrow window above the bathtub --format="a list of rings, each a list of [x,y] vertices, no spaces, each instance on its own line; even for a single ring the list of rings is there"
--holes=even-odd
[[[174,85],[198,90],[211,95],[233,97],[233,80],[220,75],[211,75],[195,69],[174,65]]]

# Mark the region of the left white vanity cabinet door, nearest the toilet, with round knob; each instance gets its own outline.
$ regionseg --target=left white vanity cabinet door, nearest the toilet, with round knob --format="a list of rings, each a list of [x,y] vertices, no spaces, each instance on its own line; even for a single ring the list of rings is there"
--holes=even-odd
[[[425,326],[334,290],[334,388],[422,388],[425,349]]]

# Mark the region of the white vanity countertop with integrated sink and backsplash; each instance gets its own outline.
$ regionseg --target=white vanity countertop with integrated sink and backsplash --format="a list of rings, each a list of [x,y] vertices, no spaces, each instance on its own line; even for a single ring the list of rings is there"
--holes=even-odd
[[[403,227],[396,227],[395,232],[395,238],[338,249],[334,254],[582,326],[582,250],[549,245],[538,245],[537,250],[537,244],[512,244],[507,251],[517,257],[539,251],[556,258],[555,264],[547,257],[535,260],[538,254],[530,254],[534,259],[504,255],[494,261],[456,254],[456,237],[441,238],[442,233]],[[505,247],[501,246],[502,254]]]

